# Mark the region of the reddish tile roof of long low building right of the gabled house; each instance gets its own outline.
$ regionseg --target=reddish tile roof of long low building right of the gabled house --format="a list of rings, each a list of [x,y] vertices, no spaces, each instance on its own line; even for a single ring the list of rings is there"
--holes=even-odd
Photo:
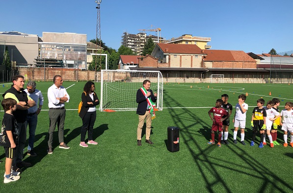
[[[205,49],[205,53],[208,54],[205,56],[205,61],[255,62],[244,51]]]

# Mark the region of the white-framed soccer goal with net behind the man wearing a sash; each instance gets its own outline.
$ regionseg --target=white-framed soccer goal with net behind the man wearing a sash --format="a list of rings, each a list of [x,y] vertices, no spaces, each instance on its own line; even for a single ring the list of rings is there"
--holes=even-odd
[[[158,93],[156,109],[163,109],[163,78],[160,71],[102,70],[100,111],[136,111],[136,92],[142,82],[151,81],[152,91]]]

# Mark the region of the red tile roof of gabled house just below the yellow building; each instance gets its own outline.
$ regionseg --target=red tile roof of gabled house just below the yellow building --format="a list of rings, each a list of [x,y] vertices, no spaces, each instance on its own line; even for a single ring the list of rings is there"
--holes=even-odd
[[[164,53],[203,54],[194,44],[157,44]]]

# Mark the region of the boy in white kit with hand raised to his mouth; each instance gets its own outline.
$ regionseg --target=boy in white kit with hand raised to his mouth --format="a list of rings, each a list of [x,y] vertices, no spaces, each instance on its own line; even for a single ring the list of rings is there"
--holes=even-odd
[[[233,119],[234,122],[234,133],[233,133],[233,138],[234,138],[234,144],[237,144],[237,131],[240,127],[241,131],[241,141],[240,143],[242,145],[246,145],[244,143],[244,129],[245,129],[245,121],[246,121],[246,111],[248,110],[248,104],[246,104],[244,101],[246,100],[245,95],[240,95],[238,96],[238,103],[236,104],[236,111],[235,111],[235,116]]]

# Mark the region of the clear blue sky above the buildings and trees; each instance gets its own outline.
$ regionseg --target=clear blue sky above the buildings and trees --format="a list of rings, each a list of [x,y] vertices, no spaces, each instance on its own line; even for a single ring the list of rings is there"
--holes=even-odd
[[[96,5],[95,0],[1,0],[0,31],[74,32],[95,39]],[[292,0],[102,0],[101,39],[118,49],[123,32],[153,25],[165,39],[210,37],[212,49],[284,52],[293,50],[292,9]]]

